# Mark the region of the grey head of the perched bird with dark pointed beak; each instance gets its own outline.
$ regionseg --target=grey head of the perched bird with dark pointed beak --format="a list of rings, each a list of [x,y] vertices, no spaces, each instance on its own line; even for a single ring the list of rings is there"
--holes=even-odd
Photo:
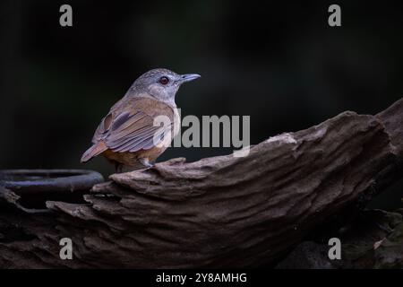
[[[176,74],[167,69],[153,69],[141,76],[133,83],[131,93],[147,92],[150,96],[175,104],[176,91],[186,82],[200,78],[199,74]]]

